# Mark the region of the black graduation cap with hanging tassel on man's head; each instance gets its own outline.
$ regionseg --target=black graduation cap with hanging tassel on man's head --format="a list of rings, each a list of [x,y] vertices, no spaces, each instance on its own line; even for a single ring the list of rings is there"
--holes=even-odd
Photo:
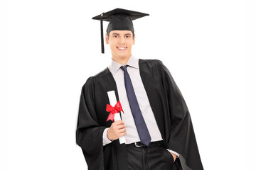
[[[149,16],[148,13],[140,13],[137,11],[129,11],[122,8],[116,8],[112,11],[102,13],[92,19],[100,20],[100,31],[101,31],[101,46],[102,53],[104,53],[104,41],[103,41],[103,22],[110,22],[107,26],[107,33],[112,30],[130,30],[134,33],[134,27],[132,21],[142,18],[143,16]]]

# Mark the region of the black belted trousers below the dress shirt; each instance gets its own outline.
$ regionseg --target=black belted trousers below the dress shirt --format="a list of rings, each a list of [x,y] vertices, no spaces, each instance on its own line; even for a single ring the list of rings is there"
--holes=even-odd
[[[128,170],[181,170],[181,163],[164,147],[126,145]]]

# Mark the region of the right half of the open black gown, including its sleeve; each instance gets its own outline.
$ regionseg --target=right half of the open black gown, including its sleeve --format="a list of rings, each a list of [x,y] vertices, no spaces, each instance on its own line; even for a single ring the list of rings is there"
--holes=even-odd
[[[181,154],[183,169],[203,169],[191,116],[171,73],[159,60],[139,60],[139,63],[146,94],[166,149]]]

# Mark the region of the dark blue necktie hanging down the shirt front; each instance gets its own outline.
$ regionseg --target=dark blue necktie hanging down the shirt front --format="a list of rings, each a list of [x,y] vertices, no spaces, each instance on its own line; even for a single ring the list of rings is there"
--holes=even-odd
[[[124,70],[125,89],[127,91],[127,97],[128,97],[128,101],[129,101],[129,106],[132,111],[132,116],[134,118],[134,122],[135,122],[135,125],[137,128],[137,131],[139,133],[139,138],[144,145],[149,146],[151,137],[149,135],[148,128],[146,128],[146,123],[142,116],[142,111],[139,109],[139,103],[138,103],[137,98],[134,93],[132,81],[127,72],[127,65],[122,66],[121,69]]]

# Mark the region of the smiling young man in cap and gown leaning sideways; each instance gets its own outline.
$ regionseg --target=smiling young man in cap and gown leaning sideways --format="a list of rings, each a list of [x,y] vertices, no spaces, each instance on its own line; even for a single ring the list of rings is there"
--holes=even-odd
[[[77,143],[88,169],[201,170],[190,114],[169,70],[159,60],[132,56],[132,20],[142,16],[148,14],[117,8],[94,18],[101,26],[110,21],[105,42],[112,63],[82,86]],[[108,91],[122,105],[122,120],[106,121]]]

